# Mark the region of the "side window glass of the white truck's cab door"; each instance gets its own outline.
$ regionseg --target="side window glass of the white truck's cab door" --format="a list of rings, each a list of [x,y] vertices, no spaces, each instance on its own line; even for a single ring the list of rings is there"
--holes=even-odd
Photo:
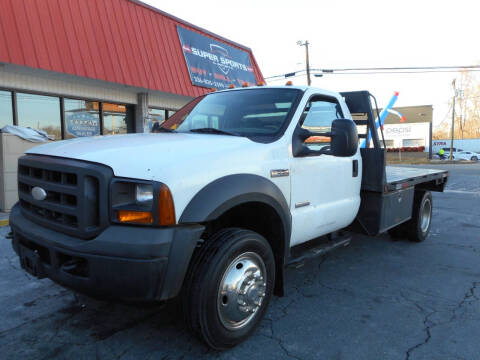
[[[336,100],[313,98],[305,107],[302,118],[302,128],[325,133],[332,129],[333,120],[343,118],[343,112]],[[330,146],[330,137],[311,136],[305,140],[305,145],[311,150],[321,150]]]

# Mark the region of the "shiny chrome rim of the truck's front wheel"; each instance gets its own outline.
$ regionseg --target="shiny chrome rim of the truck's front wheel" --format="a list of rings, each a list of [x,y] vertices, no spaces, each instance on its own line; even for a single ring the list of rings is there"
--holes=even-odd
[[[239,330],[256,316],[267,289],[267,271],[262,258],[245,252],[225,270],[217,297],[217,310],[223,326]]]

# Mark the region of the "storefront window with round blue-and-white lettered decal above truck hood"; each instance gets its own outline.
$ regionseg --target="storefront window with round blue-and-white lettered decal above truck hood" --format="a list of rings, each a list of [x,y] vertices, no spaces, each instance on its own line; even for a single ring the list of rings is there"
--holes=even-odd
[[[65,139],[100,135],[100,106],[96,101],[64,100]]]

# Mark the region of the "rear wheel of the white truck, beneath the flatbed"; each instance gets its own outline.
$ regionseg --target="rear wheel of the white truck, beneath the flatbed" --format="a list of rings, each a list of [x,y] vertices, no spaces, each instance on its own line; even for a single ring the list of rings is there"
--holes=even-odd
[[[408,224],[410,241],[422,242],[427,238],[432,226],[432,209],[433,202],[430,191],[415,191],[412,218],[405,223]],[[427,215],[428,221],[425,221]]]

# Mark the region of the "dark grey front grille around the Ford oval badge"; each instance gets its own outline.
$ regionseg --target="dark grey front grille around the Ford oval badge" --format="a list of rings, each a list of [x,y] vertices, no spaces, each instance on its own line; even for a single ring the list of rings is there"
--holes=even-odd
[[[88,239],[108,225],[110,168],[85,161],[27,155],[18,161],[18,194],[23,214],[34,222]],[[37,200],[32,190],[46,192]]]

